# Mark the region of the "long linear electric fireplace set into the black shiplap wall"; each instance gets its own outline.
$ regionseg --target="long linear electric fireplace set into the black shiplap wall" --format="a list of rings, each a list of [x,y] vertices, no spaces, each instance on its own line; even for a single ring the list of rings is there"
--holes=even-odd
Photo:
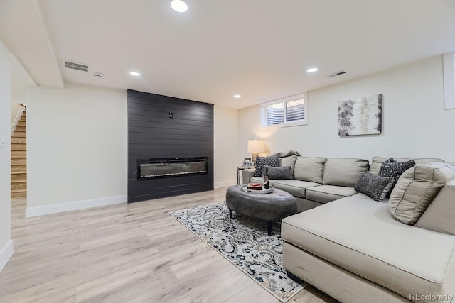
[[[150,158],[137,160],[137,178],[208,174],[208,158]]]

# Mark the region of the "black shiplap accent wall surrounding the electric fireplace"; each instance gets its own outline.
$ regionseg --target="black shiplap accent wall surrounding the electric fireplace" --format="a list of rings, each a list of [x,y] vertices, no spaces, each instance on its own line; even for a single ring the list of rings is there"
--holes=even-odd
[[[128,202],[213,189],[213,104],[130,89],[127,103]],[[209,172],[137,179],[137,159],[174,157],[208,157]]]

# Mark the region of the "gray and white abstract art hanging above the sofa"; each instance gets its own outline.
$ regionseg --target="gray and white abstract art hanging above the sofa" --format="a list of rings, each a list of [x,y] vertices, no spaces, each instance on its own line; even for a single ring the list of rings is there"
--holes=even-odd
[[[382,94],[338,104],[338,136],[382,133]]]

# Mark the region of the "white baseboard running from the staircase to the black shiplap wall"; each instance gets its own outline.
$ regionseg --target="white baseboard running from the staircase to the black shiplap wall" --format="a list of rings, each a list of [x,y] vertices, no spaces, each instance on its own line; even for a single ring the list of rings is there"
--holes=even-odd
[[[43,216],[45,214],[56,214],[64,211],[75,211],[78,209],[89,209],[91,207],[106,206],[112,204],[126,203],[127,196],[107,197],[83,201],[53,204],[46,206],[27,207],[26,218],[31,216]]]

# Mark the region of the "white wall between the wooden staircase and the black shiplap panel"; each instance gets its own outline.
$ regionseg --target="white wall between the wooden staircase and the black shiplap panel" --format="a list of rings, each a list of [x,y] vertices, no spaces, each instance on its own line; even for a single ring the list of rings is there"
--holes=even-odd
[[[36,88],[26,106],[26,216],[126,202],[126,92]]]

